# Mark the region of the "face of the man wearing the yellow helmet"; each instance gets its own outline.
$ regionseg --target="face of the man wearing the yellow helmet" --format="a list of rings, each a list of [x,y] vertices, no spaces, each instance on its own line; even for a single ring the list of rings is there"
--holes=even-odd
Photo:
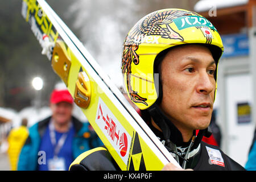
[[[161,65],[163,99],[160,107],[181,131],[205,129],[213,110],[216,64],[200,45],[174,48]]]

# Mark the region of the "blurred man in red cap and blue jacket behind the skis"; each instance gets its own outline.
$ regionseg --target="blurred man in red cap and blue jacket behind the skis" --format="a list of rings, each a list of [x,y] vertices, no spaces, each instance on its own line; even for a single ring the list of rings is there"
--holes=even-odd
[[[99,138],[90,141],[89,123],[72,116],[73,98],[67,89],[53,90],[50,108],[51,117],[29,129],[20,152],[18,170],[68,170],[82,152],[102,144]]]

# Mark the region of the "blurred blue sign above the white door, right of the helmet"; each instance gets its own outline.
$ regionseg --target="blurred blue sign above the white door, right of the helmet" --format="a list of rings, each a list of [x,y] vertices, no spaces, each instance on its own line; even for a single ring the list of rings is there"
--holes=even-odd
[[[249,55],[249,39],[246,34],[230,34],[221,36],[224,45],[222,57]]]

